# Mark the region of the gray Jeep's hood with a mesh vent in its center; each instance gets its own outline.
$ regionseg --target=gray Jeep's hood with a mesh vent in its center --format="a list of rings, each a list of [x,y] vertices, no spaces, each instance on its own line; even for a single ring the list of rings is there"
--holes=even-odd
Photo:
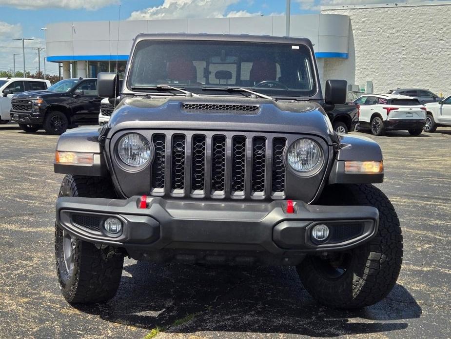
[[[215,105],[226,105],[225,110]],[[328,143],[336,139],[329,118],[316,102],[236,96],[124,99],[111,116],[107,137],[131,128],[302,133],[318,135]]]

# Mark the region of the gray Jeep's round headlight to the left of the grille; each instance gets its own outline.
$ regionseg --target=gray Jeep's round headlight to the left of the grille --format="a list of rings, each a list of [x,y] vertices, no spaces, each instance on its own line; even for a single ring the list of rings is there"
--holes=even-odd
[[[118,142],[118,154],[126,165],[141,166],[150,159],[150,145],[141,134],[126,134]]]

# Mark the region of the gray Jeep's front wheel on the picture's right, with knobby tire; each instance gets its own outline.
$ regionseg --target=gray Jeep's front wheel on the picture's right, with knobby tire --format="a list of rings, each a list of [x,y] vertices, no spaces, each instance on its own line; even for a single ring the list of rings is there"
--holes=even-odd
[[[373,185],[333,185],[319,204],[373,206],[379,228],[369,242],[346,252],[309,255],[297,266],[306,290],[336,308],[361,308],[385,298],[399,275],[403,255],[401,227],[387,196]]]

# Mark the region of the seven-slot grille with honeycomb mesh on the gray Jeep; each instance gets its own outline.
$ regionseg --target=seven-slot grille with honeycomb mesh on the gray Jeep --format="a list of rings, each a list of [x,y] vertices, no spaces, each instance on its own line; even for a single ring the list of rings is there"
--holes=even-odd
[[[286,139],[225,134],[153,134],[151,194],[283,198]]]

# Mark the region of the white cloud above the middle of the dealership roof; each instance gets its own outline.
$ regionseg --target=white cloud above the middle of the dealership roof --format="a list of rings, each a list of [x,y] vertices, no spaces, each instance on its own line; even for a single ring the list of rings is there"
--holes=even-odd
[[[260,12],[228,11],[240,0],[164,0],[160,6],[132,12],[129,20],[249,17]]]

